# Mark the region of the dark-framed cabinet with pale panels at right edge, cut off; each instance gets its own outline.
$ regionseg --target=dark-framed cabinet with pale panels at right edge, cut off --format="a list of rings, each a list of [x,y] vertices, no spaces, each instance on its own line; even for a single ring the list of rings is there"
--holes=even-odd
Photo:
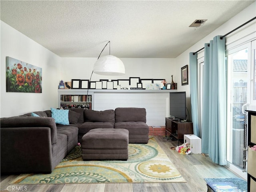
[[[248,161],[247,161],[247,184],[248,192],[256,191],[256,151],[250,147],[256,145],[256,111],[246,110],[248,112]]]

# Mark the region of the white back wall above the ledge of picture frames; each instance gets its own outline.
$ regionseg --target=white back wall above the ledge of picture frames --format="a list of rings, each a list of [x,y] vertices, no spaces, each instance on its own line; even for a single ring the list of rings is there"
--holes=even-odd
[[[65,81],[71,79],[100,79],[117,80],[129,79],[129,77],[140,77],[144,79],[166,79],[171,83],[171,75],[176,77],[176,62],[174,58],[120,58],[124,63],[125,75],[102,76],[92,74],[93,65],[97,58],[61,58],[61,78]]]

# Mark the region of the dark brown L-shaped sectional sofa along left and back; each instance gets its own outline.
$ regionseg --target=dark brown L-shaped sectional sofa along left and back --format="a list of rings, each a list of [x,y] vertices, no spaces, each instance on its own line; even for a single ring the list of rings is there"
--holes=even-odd
[[[56,124],[51,110],[0,118],[0,165],[4,173],[50,173],[95,128],[124,128],[129,143],[148,143],[144,108],[94,111],[70,108],[69,125]]]

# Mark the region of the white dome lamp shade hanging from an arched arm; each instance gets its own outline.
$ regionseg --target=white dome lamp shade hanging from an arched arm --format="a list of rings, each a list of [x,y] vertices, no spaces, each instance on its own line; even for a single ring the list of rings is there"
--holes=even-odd
[[[98,58],[94,64],[93,72],[99,75],[118,76],[125,74],[125,68],[119,58],[107,55]]]

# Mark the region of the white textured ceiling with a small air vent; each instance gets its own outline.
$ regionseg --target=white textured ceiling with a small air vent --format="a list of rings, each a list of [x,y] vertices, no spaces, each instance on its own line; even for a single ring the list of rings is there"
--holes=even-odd
[[[61,57],[98,57],[110,40],[120,58],[176,58],[253,2],[1,0],[0,16]],[[196,19],[207,21],[188,27]]]

